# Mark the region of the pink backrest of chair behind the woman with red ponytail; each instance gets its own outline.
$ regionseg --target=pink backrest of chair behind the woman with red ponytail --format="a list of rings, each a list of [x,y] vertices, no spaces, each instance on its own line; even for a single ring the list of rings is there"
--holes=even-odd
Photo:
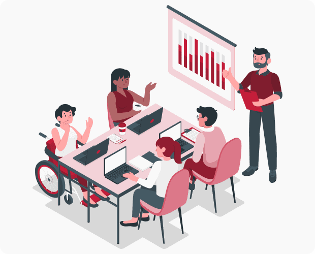
[[[168,214],[186,203],[189,176],[189,172],[186,169],[182,169],[172,176],[166,189],[163,207],[159,216]]]

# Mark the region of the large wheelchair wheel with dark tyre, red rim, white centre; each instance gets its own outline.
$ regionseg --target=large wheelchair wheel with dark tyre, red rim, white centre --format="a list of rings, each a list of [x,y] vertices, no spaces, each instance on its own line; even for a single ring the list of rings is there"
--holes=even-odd
[[[58,183],[60,196],[65,192],[65,179],[58,179],[58,168],[49,161],[41,161],[36,165],[35,177],[44,193],[52,198],[58,197]]]

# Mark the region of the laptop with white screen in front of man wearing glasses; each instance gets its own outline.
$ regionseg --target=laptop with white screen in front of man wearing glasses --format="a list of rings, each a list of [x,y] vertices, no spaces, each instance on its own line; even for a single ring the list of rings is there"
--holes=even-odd
[[[177,141],[180,144],[180,154],[192,149],[194,146],[191,143],[186,142],[181,139],[181,121],[175,123],[170,128],[159,134],[159,138],[170,137],[174,141]],[[171,158],[174,158],[174,152],[171,155]]]

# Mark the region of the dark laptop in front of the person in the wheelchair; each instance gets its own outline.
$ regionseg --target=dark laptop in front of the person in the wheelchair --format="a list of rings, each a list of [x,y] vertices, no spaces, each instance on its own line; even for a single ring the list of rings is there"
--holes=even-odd
[[[97,145],[93,145],[84,152],[79,153],[78,155],[74,156],[74,160],[77,162],[87,165],[95,160],[97,160],[99,157],[103,156],[105,153],[107,153],[108,150],[108,144],[109,144],[109,138],[102,141],[101,143]]]

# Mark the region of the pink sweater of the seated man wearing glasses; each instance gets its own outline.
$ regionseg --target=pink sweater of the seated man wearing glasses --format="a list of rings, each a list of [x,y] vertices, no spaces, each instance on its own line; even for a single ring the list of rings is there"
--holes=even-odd
[[[220,152],[226,143],[220,128],[203,128],[203,132],[199,133],[196,139],[193,161],[199,162],[203,154],[203,163],[207,167],[216,168]]]

